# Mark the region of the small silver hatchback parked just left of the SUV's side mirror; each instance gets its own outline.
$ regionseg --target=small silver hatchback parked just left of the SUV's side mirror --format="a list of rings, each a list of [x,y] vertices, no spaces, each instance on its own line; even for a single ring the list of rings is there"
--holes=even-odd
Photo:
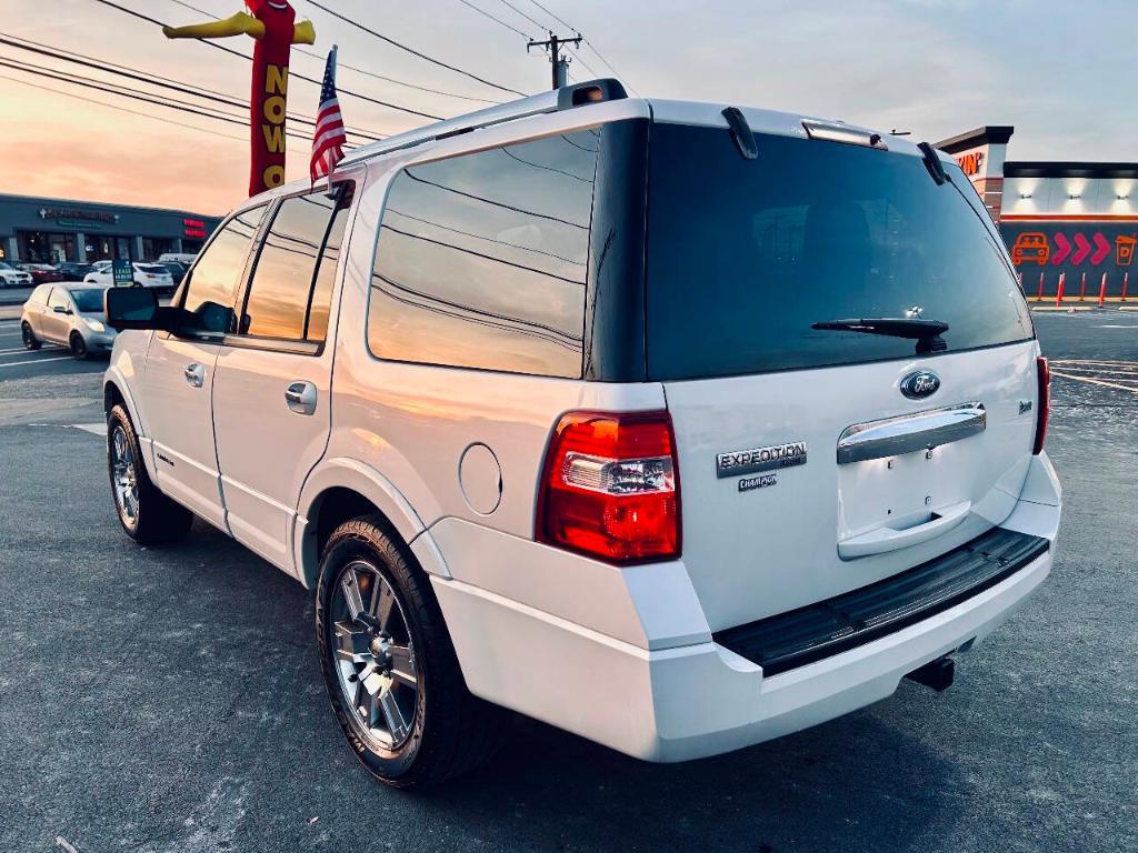
[[[24,346],[67,347],[77,359],[110,355],[115,330],[102,322],[106,288],[90,284],[41,284],[24,303],[19,324]]]

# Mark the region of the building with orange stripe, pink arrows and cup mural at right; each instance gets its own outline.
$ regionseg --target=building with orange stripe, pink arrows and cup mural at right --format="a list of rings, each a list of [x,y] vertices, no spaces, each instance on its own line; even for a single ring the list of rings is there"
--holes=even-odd
[[[953,155],[998,223],[1029,297],[1133,298],[1138,163],[1009,160],[1007,125],[937,147]]]

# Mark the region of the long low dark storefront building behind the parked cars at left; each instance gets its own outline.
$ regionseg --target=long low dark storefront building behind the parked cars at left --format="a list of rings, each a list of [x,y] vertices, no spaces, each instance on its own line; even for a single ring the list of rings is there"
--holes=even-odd
[[[155,260],[198,251],[220,222],[187,210],[0,196],[0,260]]]

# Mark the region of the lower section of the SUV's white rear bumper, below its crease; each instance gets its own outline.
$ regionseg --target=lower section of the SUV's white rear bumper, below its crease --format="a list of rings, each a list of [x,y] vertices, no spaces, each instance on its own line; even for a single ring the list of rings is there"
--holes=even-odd
[[[459,581],[432,578],[476,694],[646,761],[686,761],[885,698],[917,666],[983,639],[1044,581],[1050,552],[896,633],[789,672],[714,643],[648,652]]]

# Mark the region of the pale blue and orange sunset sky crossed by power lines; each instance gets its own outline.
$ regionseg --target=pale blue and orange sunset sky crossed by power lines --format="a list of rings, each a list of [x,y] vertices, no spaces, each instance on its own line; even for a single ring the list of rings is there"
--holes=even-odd
[[[205,19],[178,0],[116,0],[170,24]],[[531,0],[511,0],[552,24]],[[531,92],[547,86],[544,55],[460,0],[322,0],[324,6],[451,65]],[[534,38],[544,34],[503,0],[471,3]],[[226,17],[239,0],[192,0]],[[579,27],[641,94],[787,109],[938,140],[982,124],[1014,124],[1013,159],[1138,160],[1132,0],[542,0]],[[385,44],[295,0],[316,28],[314,52],[339,44],[355,65],[450,94],[341,67],[340,89],[452,116],[511,98]],[[5,0],[3,36],[34,40],[247,98],[249,64],[193,41],[166,41],[151,24],[96,0]],[[563,27],[560,27],[563,31]],[[562,33],[567,34],[567,33]],[[226,40],[250,52],[246,36]],[[0,58],[145,89],[58,59],[0,45]],[[609,76],[588,49],[571,74]],[[322,60],[294,51],[292,71],[319,78]],[[16,82],[22,81],[22,82]],[[133,115],[32,88],[47,86],[142,113]],[[159,97],[173,96],[155,91]],[[319,88],[292,80],[289,109],[312,116]],[[464,96],[470,100],[453,97]],[[188,98],[185,98],[189,100]],[[487,99],[487,100],[476,100]],[[0,67],[0,192],[223,213],[245,193],[247,131],[76,89]],[[349,126],[391,133],[426,119],[343,94]],[[236,111],[236,110],[228,110]],[[178,124],[174,124],[178,123]],[[188,126],[182,126],[188,125]],[[195,130],[200,129],[200,130]],[[305,131],[302,125],[292,130]],[[221,135],[217,135],[221,134]],[[289,143],[289,177],[307,172],[307,143]]]

